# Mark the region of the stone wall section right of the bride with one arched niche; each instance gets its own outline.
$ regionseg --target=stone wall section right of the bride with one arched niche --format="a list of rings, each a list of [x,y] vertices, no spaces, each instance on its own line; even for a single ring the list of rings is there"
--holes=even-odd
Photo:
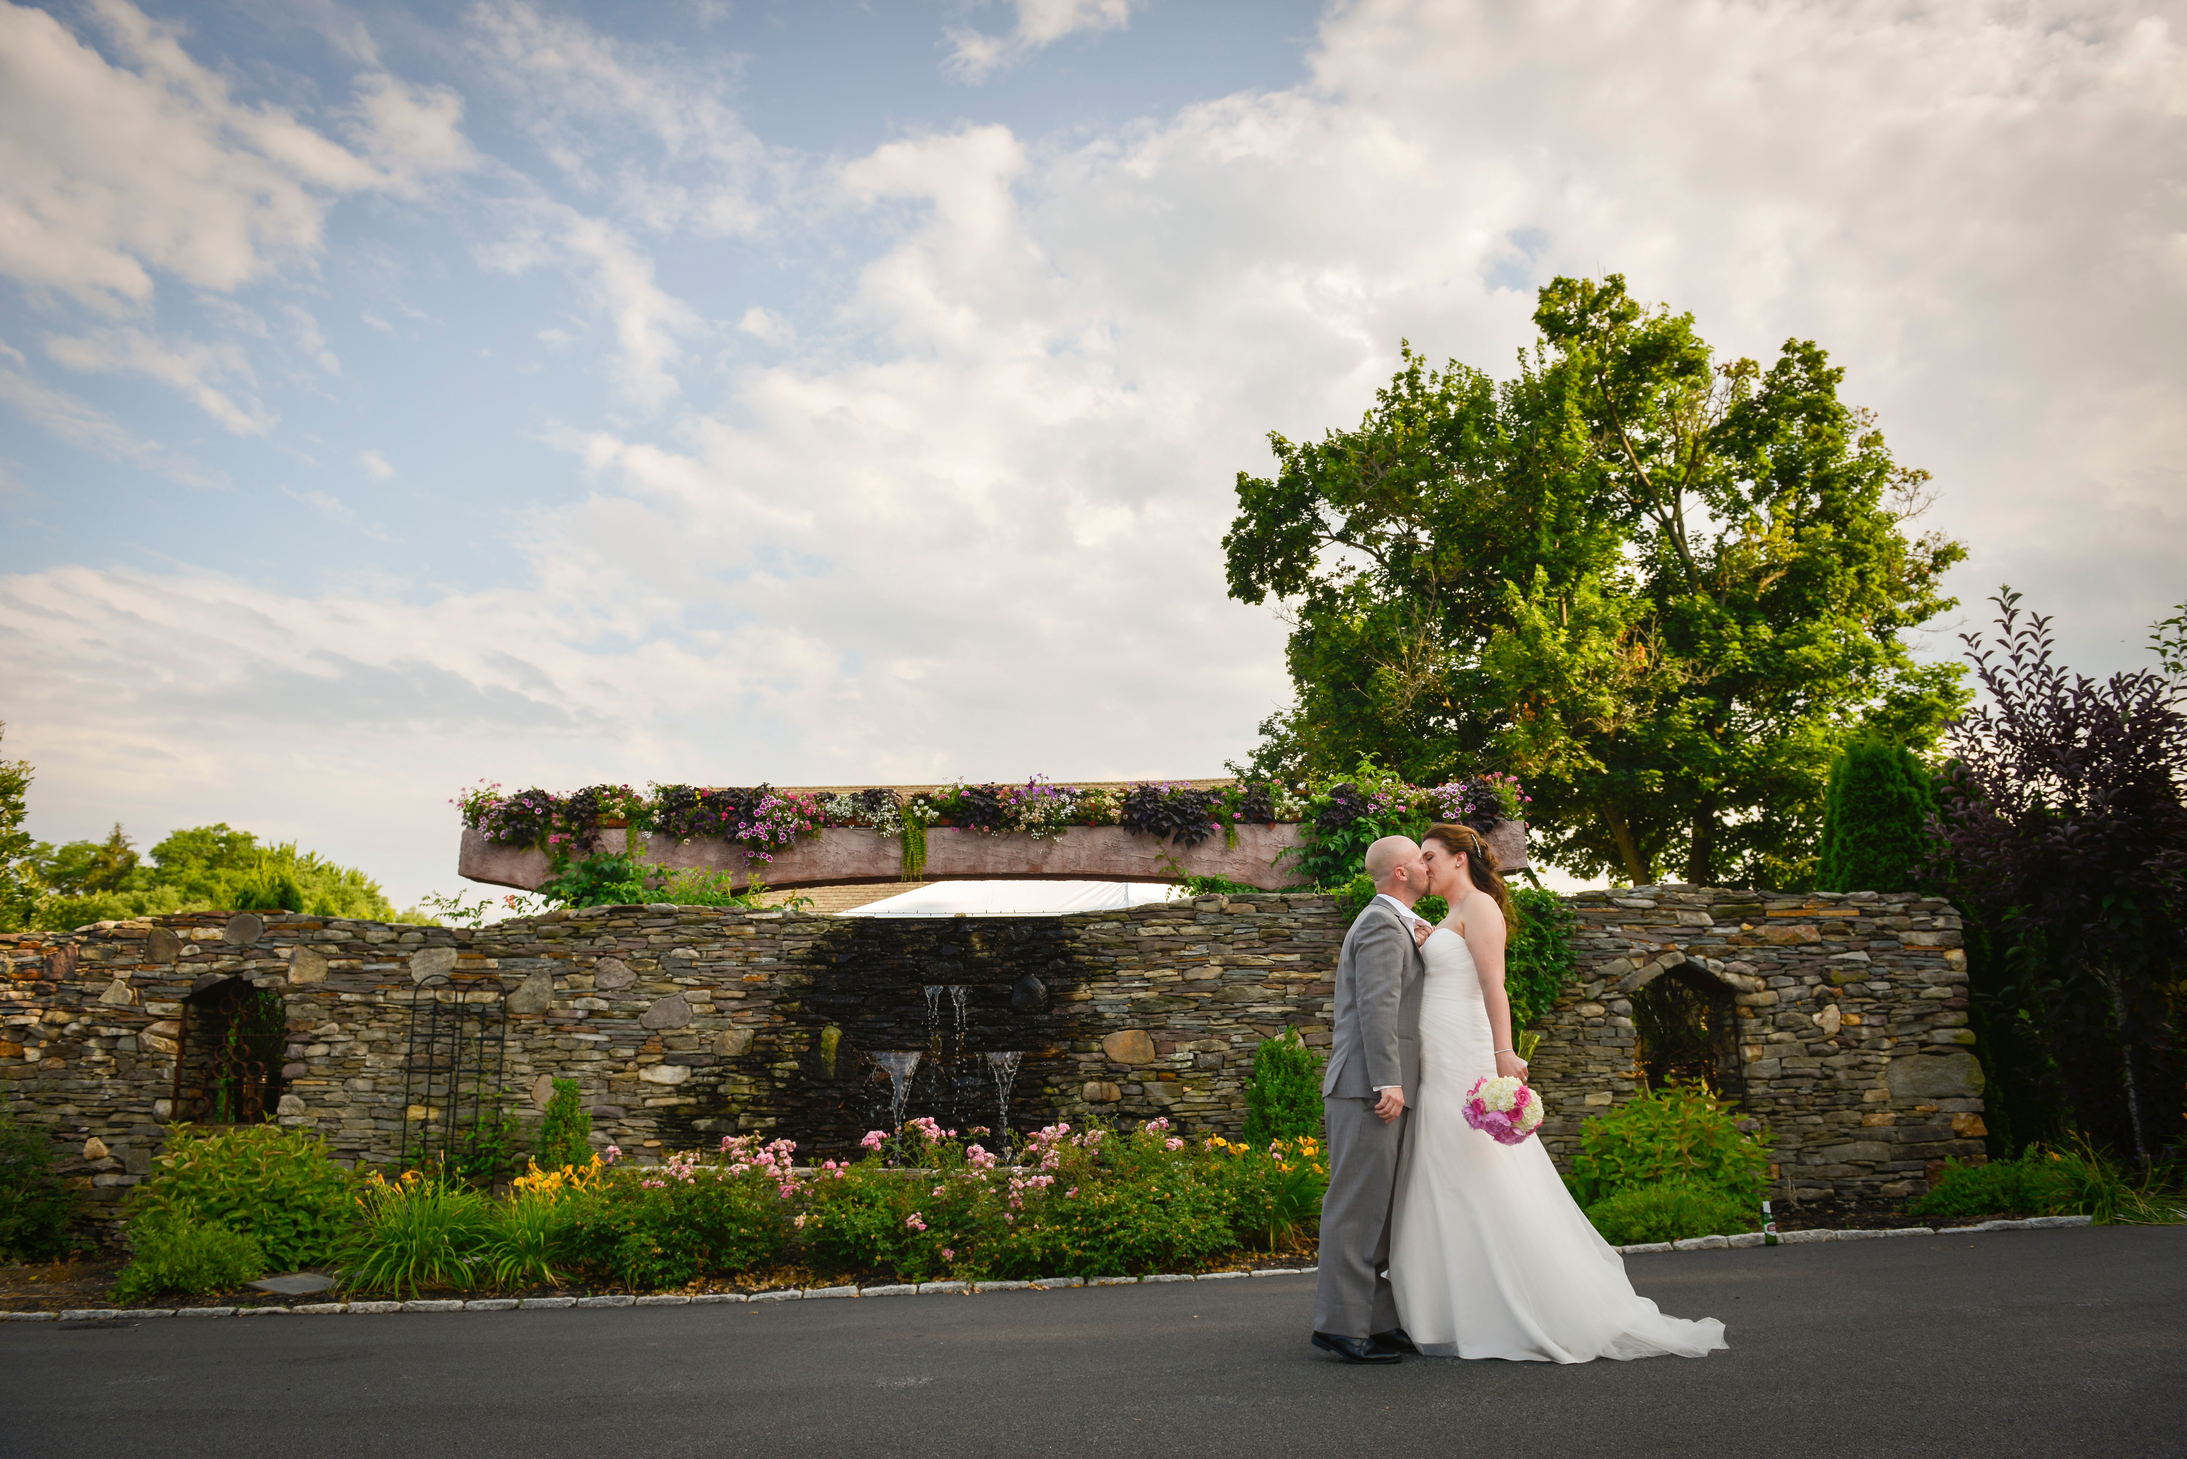
[[[1732,993],[1743,1105],[1778,1135],[1780,1194],[1896,1199],[1946,1157],[1981,1157],[1981,1065],[1949,903],[1656,886],[1581,892],[1572,910],[1581,980],[1540,1024],[1533,1061],[1559,1166],[1586,1116],[1638,1094],[1632,995],[1664,976]]]

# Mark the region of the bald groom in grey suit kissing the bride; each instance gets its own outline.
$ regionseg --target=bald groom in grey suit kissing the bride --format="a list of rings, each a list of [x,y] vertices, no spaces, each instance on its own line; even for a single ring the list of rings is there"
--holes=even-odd
[[[1330,1137],[1330,1192],[1321,1199],[1321,1284],[1314,1347],[1349,1363],[1395,1363],[1415,1352],[1389,1291],[1389,1207],[1397,1190],[1419,1089],[1422,960],[1413,903],[1428,886],[1419,847],[1384,836],[1367,847],[1376,899],[1352,923],[1336,958],[1336,1030],[1321,1109]]]

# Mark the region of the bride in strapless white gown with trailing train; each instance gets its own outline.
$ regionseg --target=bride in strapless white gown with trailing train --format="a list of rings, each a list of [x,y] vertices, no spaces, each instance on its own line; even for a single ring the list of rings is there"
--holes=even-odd
[[[1470,827],[1424,842],[1428,892],[1450,917],[1422,923],[1419,1105],[1397,1168],[1389,1277],[1419,1352],[1443,1358],[1588,1363],[1697,1358],[1726,1347],[1715,1317],[1664,1317],[1572,1203],[1542,1142],[1498,1144],[1465,1122],[1481,1076],[1524,1078],[1505,995],[1509,895]],[[1551,1089],[1548,1098],[1557,1098]]]

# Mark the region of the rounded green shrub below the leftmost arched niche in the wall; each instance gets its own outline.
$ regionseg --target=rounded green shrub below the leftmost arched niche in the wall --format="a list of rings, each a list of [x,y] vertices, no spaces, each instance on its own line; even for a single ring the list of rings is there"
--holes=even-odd
[[[129,1192],[129,1212],[175,1212],[252,1236],[282,1271],[335,1260],[350,1225],[350,1172],[317,1135],[245,1124],[208,1135],[175,1124],[168,1153]]]

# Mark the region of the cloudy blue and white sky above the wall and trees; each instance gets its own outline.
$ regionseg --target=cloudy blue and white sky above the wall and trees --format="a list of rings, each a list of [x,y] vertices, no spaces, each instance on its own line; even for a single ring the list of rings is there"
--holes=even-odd
[[[0,755],[455,890],[479,779],[1207,777],[1408,339],[1815,339],[2071,665],[2187,599],[2187,4],[0,0]]]

